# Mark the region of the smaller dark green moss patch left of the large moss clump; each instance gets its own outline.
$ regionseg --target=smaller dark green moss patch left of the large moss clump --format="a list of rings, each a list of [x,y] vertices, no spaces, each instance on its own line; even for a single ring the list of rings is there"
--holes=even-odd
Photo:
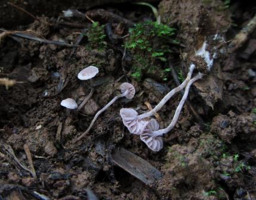
[[[106,34],[104,32],[104,25],[101,25],[98,22],[94,22],[91,24],[90,29],[86,33],[88,38],[88,45],[89,49],[98,49],[99,51],[104,51],[106,48]]]

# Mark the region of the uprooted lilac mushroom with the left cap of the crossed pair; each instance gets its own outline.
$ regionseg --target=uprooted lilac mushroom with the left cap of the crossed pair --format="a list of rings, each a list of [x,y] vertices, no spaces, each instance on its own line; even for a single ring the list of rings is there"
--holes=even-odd
[[[189,68],[189,73],[187,74],[187,78],[184,80],[184,82],[181,83],[180,86],[175,87],[169,93],[167,93],[153,110],[138,115],[138,112],[136,112],[132,108],[122,108],[120,110],[120,115],[122,117],[124,125],[127,127],[129,132],[136,135],[140,135],[141,133],[143,133],[143,130],[146,127],[146,122],[143,120],[143,118],[155,115],[156,112],[158,112],[175,93],[180,92],[180,90],[182,90],[190,81],[194,68],[195,65],[191,64]]]

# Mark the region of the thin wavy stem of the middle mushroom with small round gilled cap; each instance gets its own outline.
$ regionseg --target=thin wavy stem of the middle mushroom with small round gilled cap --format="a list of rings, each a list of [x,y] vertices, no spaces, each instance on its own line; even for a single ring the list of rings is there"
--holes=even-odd
[[[117,99],[128,95],[128,93],[129,93],[129,90],[125,90],[124,93],[121,93],[120,95],[115,96],[107,105],[105,105],[103,108],[101,108],[101,110],[99,110],[99,111],[95,114],[95,116],[94,116],[94,118],[92,119],[91,124],[90,124],[90,126],[87,128],[87,130],[85,130],[85,132],[82,133],[81,136],[79,136],[77,139],[75,139],[75,142],[78,142],[79,140],[82,139],[82,137],[84,137],[85,135],[87,135],[88,132],[90,132],[91,127],[93,126],[93,124],[94,124],[95,121],[97,120],[98,116],[99,116],[102,112],[104,112],[105,110],[107,110],[107,108],[109,108],[110,105],[112,105]]]

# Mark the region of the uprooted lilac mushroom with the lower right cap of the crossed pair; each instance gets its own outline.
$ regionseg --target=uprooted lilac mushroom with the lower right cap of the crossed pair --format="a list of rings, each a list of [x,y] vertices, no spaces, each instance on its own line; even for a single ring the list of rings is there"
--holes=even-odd
[[[144,129],[144,132],[140,135],[140,139],[146,143],[146,145],[152,149],[152,151],[160,151],[163,147],[162,145],[162,135],[170,132],[175,124],[178,121],[178,117],[180,115],[180,112],[183,108],[183,105],[187,99],[187,96],[189,95],[189,89],[190,86],[196,82],[196,80],[201,79],[202,78],[202,74],[199,73],[197,76],[193,77],[193,79],[191,79],[189,81],[189,83],[187,83],[186,89],[184,91],[184,95],[180,101],[180,104],[178,104],[177,110],[175,111],[174,117],[172,118],[171,123],[169,124],[168,127],[166,127],[165,129],[160,129],[159,130],[159,125],[158,122],[156,120],[150,120],[149,123],[147,124],[146,128]]]

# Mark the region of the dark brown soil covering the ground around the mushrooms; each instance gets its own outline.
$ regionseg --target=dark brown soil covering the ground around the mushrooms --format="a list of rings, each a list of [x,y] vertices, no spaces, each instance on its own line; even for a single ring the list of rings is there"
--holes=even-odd
[[[82,8],[80,4],[63,3],[60,8],[70,6],[85,12],[85,8],[97,6],[131,23],[155,20],[147,7],[106,2],[94,1]],[[53,1],[48,7],[53,3],[57,4]],[[5,10],[4,5],[0,11]],[[144,102],[155,107],[169,89],[176,87],[171,73],[167,81],[157,74],[146,74],[140,82],[131,76],[133,55],[124,55],[123,47],[131,27],[127,21],[91,10],[92,19],[104,25],[110,23],[115,34],[107,36],[103,51],[89,49],[86,36],[78,48],[4,38],[0,42],[0,77],[23,83],[8,90],[0,86],[0,199],[95,199],[88,189],[98,199],[256,199],[256,31],[232,54],[227,54],[229,47],[224,42],[254,17],[255,2],[231,1],[226,6],[221,0],[162,0],[153,5],[159,8],[162,23],[177,29],[180,45],[174,46],[169,56],[175,70],[186,74],[194,62],[197,71],[205,73],[189,94],[190,104],[203,122],[184,105],[174,130],[164,137],[160,152],[148,149],[124,127],[121,108],[143,113],[149,109]],[[8,9],[17,12],[16,8]],[[40,7],[35,13],[30,6],[26,9],[39,20],[27,16],[19,19],[17,15],[13,17],[18,17],[20,24],[10,24],[11,19],[5,21],[0,14],[1,26],[29,29],[40,38],[76,43],[91,25],[87,18],[63,18],[59,9],[50,12]],[[195,50],[204,40],[211,55],[217,52],[211,72],[203,59],[195,57]],[[100,66],[94,79],[95,92],[81,111],[70,114],[60,102],[73,98],[79,105],[90,93],[90,82],[77,79],[79,71],[89,65]],[[164,68],[167,64],[162,65]],[[119,99],[100,115],[90,133],[74,144],[94,114],[119,94],[126,78],[135,87],[134,98]],[[159,111],[161,127],[168,126],[180,99],[181,95],[175,95]],[[7,149],[13,149],[17,160],[29,166],[24,144],[32,154],[37,179],[17,161],[8,159]],[[112,160],[113,150],[119,147],[152,164],[161,171],[162,179],[145,185],[119,168]]]

